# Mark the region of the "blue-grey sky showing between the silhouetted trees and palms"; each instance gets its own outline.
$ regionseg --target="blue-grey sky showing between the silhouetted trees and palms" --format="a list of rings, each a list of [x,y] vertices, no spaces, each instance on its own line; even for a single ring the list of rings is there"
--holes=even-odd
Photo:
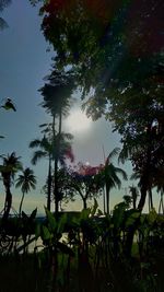
[[[47,175],[47,161],[42,160],[36,166],[31,164],[33,151],[28,149],[28,143],[35,138],[39,138],[39,125],[49,121],[49,116],[42,106],[42,96],[38,92],[44,85],[43,78],[50,72],[52,50],[48,50],[42,32],[38,16],[38,7],[32,7],[27,0],[12,1],[2,15],[9,24],[9,28],[0,32],[0,104],[7,97],[12,98],[16,106],[16,112],[7,112],[0,108],[0,135],[5,136],[0,140],[0,153],[8,154],[15,151],[21,156],[24,167],[34,170],[37,177],[36,190],[26,195],[24,200],[24,211],[30,213],[38,207],[38,213],[46,205],[45,195],[40,191]],[[80,101],[77,95],[71,113],[79,110]],[[70,114],[71,117],[71,114]],[[78,122],[78,121],[75,121]],[[107,155],[115,147],[121,147],[120,137],[112,132],[112,125],[101,118],[91,121],[90,127],[83,130],[73,130],[69,125],[69,119],[65,121],[67,131],[72,131],[73,151],[75,162],[89,162],[91,165],[98,165],[104,162],[104,153]],[[129,175],[131,174],[130,163],[120,165]],[[122,183],[120,190],[112,191],[112,208],[128,191],[131,182]],[[21,191],[12,186],[13,208],[19,209]],[[3,209],[4,190],[0,182],[0,211]],[[102,208],[102,199],[99,199]],[[68,210],[82,209],[82,202],[65,206]]]

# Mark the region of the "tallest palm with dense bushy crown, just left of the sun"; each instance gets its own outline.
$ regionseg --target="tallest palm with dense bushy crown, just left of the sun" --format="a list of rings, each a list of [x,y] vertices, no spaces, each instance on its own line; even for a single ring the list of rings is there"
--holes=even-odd
[[[39,91],[44,97],[42,103],[47,113],[52,116],[52,136],[54,144],[56,142],[55,152],[55,210],[58,214],[59,198],[58,198],[58,163],[59,151],[62,133],[62,117],[66,116],[70,108],[71,95],[74,90],[74,81],[70,72],[54,68],[50,75],[47,77],[49,83],[46,83]],[[56,118],[58,118],[58,131],[56,130]],[[58,138],[58,139],[56,139]]]

